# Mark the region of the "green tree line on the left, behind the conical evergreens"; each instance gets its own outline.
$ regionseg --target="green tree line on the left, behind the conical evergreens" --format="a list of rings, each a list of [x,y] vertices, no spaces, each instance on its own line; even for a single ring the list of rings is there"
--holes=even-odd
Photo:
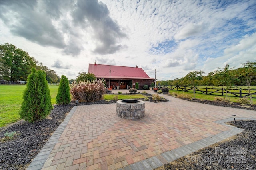
[[[0,45],[0,66],[1,84],[18,84],[20,81],[26,81],[32,68],[44,70],[48,83],[60,82],[60,77],[54,70],[10,43]]]

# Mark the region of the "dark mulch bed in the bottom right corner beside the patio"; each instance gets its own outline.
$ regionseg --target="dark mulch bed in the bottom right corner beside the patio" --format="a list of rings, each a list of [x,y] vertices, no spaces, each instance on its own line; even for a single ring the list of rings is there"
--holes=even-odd
[[[256,121],[229,124],[243,128],[244,132],[155,170],[255,170]]]

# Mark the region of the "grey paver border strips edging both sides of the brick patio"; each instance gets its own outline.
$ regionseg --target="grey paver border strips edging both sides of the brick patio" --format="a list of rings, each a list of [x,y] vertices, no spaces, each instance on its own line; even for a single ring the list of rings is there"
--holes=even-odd
[[[44,166],[44,163],[46,162],[48,156],[52,152],[55,144],[57,143],[58,139],[60,138],[60,135],[66,128],[66,125],[70,121],[71,117],[73,116],[74,112],[76,111],[78,106],[74,106],[64,121],[59,125],[59,127],[54,131],[53,135],[48,139],[42,150],[36,155],[36,158],[32,160],[31,164],[28,166],[27,170],[40,170]],[[162,154],[152,156],[150,158],[147,158],[145,160],[141,160],[139,162],[135,162],[134,164],[130,164],[128,166],[119,168],[118,170],[153,170],[154,168],[158,168],[167,162],[172,162],[178,158],[181,158],[183,156],[186,156],[187,154],[191,154],[199,149],[202,149],[204,147],[208,147],[214,143],[220,142],[224,139],[227,139],[229,137],[232,137],[238,133],[241,133],[244,131],[244,129],[234,127],[232,125],[226,124],[226,122],[233,121],[233,118],[228,119],[221,119],[218,121],[214,121],[215,123],[225,125],[228,127],[231,127],[231,129],[227,131],[222,131],[216,135],[212,135],[209,137],[206,137],[204,139],[195,141],[193,143],[189,143],[187,145],[183,145],[182,147],[178,147],[176,149],[172,149],[170,151],[166,151]],[[254,118],[236,118],[236,120],[256,120]]]

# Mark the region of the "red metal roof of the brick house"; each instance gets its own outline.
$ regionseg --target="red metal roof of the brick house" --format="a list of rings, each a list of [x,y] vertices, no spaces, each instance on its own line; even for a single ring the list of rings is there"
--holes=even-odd
[[[136,67],[89,64],[88,72],[93,73],[97,78],[109,78],[109,70],[111,70],[111,78],[154,80],[154,78],[150,78],[142,68]]]

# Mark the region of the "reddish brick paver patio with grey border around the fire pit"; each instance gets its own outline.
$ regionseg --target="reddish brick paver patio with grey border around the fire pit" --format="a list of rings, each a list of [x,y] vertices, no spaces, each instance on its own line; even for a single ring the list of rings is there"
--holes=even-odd
[[[138,120],[117,117],[116,104],[73,107],[28,170],[150,170],[242,132],[224,123],[232,114],[256,120],[255,111],[164,98],[145,102]]]

